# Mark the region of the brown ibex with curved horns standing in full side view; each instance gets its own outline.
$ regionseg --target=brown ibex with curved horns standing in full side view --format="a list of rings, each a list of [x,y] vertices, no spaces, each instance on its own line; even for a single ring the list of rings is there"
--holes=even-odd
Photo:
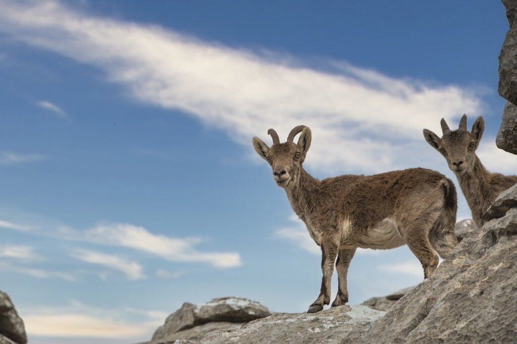
[[[407,244],[427,278],[438,265],[433,248],[445,258],[458,244],[454,236],[456,190],[445,176],[411,168],[318,180],[302,167],[311,145],[308,127],[291,130],[285,143],[280,143],[275,130],[269,129],[268,134],[273,138],[271,147],[258,137],[253,137],[253,147],[271,165],[273,178],[322,249],[321,292],[308,312],[329,304],[336,257],[339,291],[332,306],[348,302],[346,274],[357,247],[388,249]]]

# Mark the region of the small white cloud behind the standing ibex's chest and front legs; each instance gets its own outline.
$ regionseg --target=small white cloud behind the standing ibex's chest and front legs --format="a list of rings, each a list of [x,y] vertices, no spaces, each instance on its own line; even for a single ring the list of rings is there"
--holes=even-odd
[[[278,229],[275,231],[275,236],[290,241],[291,244],[311,254],[321,255],[321,248],[312,240],[305,223],[299,220],[296,215],[291,215],[289,220],[294,223],[294,226]],[[360,247],[358,247],[356,251],[356,254],[362,255],[377,255],[379,253],[381,253],[381,251]]]

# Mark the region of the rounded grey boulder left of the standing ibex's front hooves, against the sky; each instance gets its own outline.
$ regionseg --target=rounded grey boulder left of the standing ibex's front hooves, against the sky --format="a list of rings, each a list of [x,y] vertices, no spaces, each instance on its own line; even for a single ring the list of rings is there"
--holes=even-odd
[[[271,311],[260,303],[244,298],[220,298],[197,305],[186,302],[158,327],[151,343],[201,339],[210,331],[241,325],[270,315]]]

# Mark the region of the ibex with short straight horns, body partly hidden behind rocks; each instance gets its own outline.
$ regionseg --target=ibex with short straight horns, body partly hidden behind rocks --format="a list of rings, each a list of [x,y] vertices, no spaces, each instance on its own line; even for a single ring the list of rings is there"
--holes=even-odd
[[[449,168],[458,177],[474,222],[481,227],[485,223],[482,216],[486,209],[501,192],[517,183],[517,176],[490,173],[476,155],[484,131],[483,117],[476,119],[472,132],[467,130],[467,115],[462,116],[458,130],[451,131],[443,118],[440,124],[442,138],[427,129],[423,130],[423,136],[445,157]]]

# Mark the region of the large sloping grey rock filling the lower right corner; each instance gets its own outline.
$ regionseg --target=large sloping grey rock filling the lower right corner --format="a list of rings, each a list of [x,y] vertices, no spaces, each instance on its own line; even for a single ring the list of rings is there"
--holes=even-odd
[[[517,208],[485,223],[410,290],[362,343],[514,343]]]

